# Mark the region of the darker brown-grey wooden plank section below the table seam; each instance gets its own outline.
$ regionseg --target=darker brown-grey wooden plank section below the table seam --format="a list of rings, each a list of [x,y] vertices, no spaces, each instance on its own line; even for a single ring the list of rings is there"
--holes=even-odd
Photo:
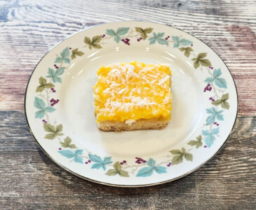
[[[29,134],[22,111],[0,111],[0,209],[255,209],[256,118],[238,118],[215,158],[147,188],[101,186],[65,172]]]

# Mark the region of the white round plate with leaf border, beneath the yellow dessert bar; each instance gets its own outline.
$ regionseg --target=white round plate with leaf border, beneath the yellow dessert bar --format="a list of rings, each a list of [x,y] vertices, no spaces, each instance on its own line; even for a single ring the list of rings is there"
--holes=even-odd
[[[169,64],[172,120],[163,130],[101,132],[93,107],[96,72],[114,62]],[[238,99],[217,54],[184,31],[149,22],[113,22],[55,45],[34,69],[25,97],[42,150],[81,178],[112,186],[173,181],[210,160],[229,137]]]

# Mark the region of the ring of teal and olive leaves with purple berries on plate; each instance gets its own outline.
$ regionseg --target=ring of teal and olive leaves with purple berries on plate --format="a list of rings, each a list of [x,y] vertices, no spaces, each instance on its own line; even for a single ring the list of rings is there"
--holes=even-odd
[[[166,154],[165,161],[159,162],[153,158],[144,160],[135,158],[134,162],[126,160],[112,160],[112,157],[100,157],[97,154],[90,153],[83,148],[77,148],[72,139],[65,135],[65,128],[62,124],[55,123],[51,118],[51,113],[58,109],[58,103],[61,103],[54,95],[62,85],[62,74],[72,63],[73,59],[86,54],[79,48],[65,47],[55,58],[53,66],[48,67],[46,75],[39,78],[36,87],[36,96],[34,97],[35,118],[42,121],[42,127],[45,131],[46,141],[54,140],[59,142],[56,152],[74,162],[93,170],[100,170],[106,176],[122,177],[146,177],[152,174],[168,173],[168,168],[173,165],[182,164],[182,162],[192,162],[193,154],[196,149],[210,148],[215,143],[221,129],[221,123],[224,120],[223,112],[229,110],[229,93],[227,90],[227,81],[222,78],[222,70],[210,62],[207,52],[195,52],[194,43],[189,38],[167,34],[162,31],[154,31],[152,27],[119,27],[117,29],[107,29],[102,34],[95,36],[85,36],[84,43],[88,50],[104,48],[106,41],[111,39],[115,43],[124,44],[129,47],[133,44],[140,44],[142,41],[149,45],[166,45],[168,48],[177,48],[185,57],[191,59],[194,64],[194,71],[201,69],[208,73],[204,82],[206,87],[203,92],[210,92],[209,106],[206,109],[208,117],[205,119],[201,133],[198,133],[196,139],[190,139],[182,148],[170,150]],[[220,94],[220,92],[222,94]]]

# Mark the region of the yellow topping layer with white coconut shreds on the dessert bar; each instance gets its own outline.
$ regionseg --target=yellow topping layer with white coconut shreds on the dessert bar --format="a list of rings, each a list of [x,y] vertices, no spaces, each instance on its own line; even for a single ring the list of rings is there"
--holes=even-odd
[[[118,63],[102,68],[98,71],[93,95],[95,104],[99,104],[98,107],[95,105],[96,113],[102,113],[106,118],[116,113],[129,116],[125,120],[128,125],[135,122],[133,118],[137,114],[134,111],[142,116],[147,112],[153,116],[163,114],[164,106],[170,109],[167,108],[171,102],[170,83],[167,83],[169,74],[170,69],[165,70],[161,65],[141,63]]]

